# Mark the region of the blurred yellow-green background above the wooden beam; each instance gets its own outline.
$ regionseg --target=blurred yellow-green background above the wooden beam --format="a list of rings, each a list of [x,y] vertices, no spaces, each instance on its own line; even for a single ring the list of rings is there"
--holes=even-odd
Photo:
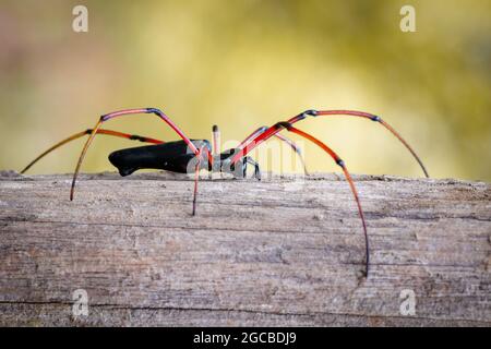
[[[88,33],[72,31],[76,4]],[[417,33],[399,29],[404,4],[416,8]],[[491,181],[490,13],[489,0],[0,0],[0,169],[20,170],[122,108],[161,108],[194,139],[217,123],[224,141],[308,108],[345,108],[392,123],[432,177]],[[298,125],[352,172],[422,176],[373,122]],[[151,116],[105,128],[177,139]],[[82,145],[31,173],[73,171]],[[107,155],[139,145],[99,136],[83,170],[115,170]],[[314,146],[306,155],[311,170],[337,171]]]

